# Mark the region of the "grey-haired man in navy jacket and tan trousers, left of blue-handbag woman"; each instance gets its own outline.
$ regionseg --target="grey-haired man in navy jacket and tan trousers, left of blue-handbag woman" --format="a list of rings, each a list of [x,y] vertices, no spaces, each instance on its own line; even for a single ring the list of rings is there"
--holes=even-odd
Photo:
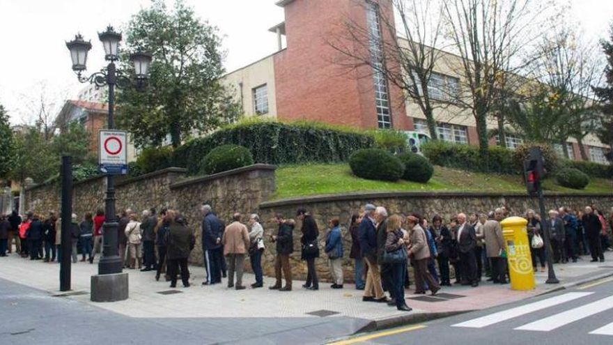
[[[375,227],[375,206],[366,204],[364,206],[364,217],[359,223],[357,231],[359,239],[359,247],[362,250],[362,257],[368,266],[366,273],[366,285],[364,286],[364,302],[389,302],[383,293],[381,285],[381,275],[379,266],[377,265],[378,247],[377,247],[377,228]]]

